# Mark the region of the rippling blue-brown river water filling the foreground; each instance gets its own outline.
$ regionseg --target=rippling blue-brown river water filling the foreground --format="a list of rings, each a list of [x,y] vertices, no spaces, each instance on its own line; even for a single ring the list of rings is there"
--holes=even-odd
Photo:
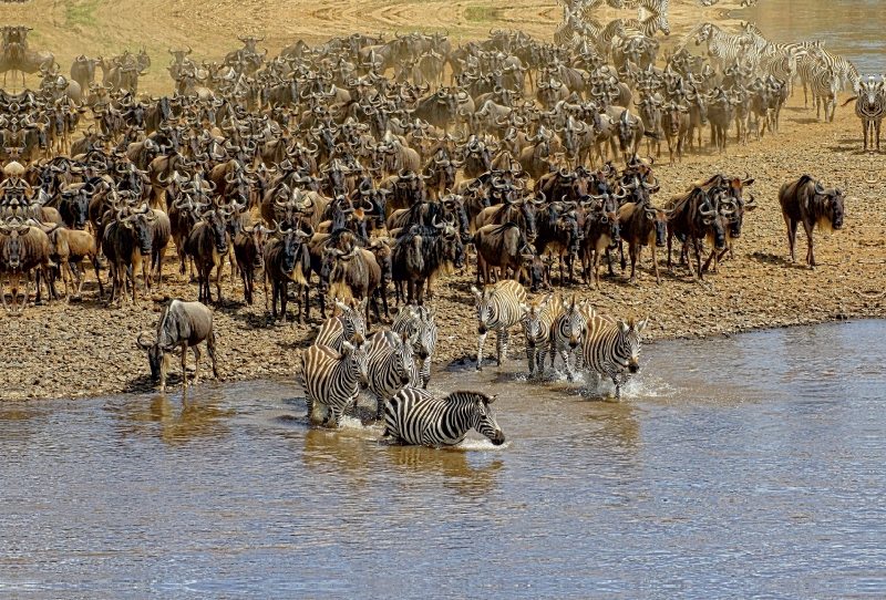
[[[883,597],[884,340],[658,343],[621,402],[525,360],[435,373],[499,394],[498,447],[311,428],[286,382],[3,403],[0,593]]]

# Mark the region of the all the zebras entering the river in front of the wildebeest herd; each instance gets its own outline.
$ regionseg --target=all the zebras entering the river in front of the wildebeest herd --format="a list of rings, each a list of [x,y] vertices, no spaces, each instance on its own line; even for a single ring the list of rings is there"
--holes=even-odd
[[[476,300],[477,370],[483,368],[483,345],[490,331],[497,337],[497,363],[507,353],[508,329],[522,325],[526,337],[529,377],[545,374],[563,359],[568,380],[585,364],[598,376],[612,380],[616,397],[631,374],[640,369],[640,335],[647,321],[628,321],[598,314],[588,300],[556,294],[529,300],[525,288],[506,279],[471,288]],[[454,392],[443,399],[427,391],[431,362],[437,341],[434,309],[408,304],[391,329],[367,335],[363,314],[367,300],[336,300],[337,313],[327,319],[315,343],[301,356],[308,417],[312,423],[339,427],[344,412],[361,390],[377,400],[375,418],[384,422],[383,437],[394,443],[450,446],[470,430],[493,444],[505,436],[490,407],[495,396]]]

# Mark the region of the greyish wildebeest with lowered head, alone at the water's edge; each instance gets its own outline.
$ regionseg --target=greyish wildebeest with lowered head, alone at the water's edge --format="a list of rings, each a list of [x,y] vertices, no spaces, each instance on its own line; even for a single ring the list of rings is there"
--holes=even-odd
[[[169,302],[157,321],[157,337],[153,343],[143,341],[146,334],[143,331],[135,342],[143,350],[147,350],[147,360],[151,364],[151,377],[159,380],[159,393],[166,393],[166,371],[169,369],[169,353],[176,349],[182,350],[182,385],[187,391],[187,349],[194,351],[196,366],[194,369],[194,383],[200,375],[200,351],[197,344],[205,341],[209,358],[213,360],[213,374],[218,379],[218,364],[215,356],[215,333],[213,331],[213,311],[200,302],[182,302],[176,299]]]

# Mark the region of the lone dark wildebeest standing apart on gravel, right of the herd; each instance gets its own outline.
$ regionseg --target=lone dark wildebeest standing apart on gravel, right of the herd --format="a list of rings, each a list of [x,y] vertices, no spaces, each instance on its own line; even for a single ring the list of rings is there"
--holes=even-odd
[[[784,224],[787,226],[787,242],[791,246],[793,262],[796,262],[796,256],[794,256],[796,226],[802,223],[810,244],[806,262],[810,267],[815,267],[812,230],[814,227],[818,227],[823,231],[833,232],[834,229],[843,227],[843,194],[847,188],[848,183],[844,187],[825,189],[810,175],[803,175],[796,182],[784,184],[779,190],[779,203],[782,205]]]

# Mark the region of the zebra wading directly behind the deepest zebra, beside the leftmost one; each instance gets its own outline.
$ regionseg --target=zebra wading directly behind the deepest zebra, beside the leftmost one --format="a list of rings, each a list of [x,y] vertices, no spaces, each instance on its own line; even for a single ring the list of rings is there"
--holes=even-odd
[[[369,366],[367,377],[369,391],[378,400],[375,417],[384,414],[384,401],[406,386],[414,386],[419,381],[419,371],[415,369],[413,345],[415,338],[406,333],[393,331],[377,331],[369,341],[372,346],[369,351]]]

